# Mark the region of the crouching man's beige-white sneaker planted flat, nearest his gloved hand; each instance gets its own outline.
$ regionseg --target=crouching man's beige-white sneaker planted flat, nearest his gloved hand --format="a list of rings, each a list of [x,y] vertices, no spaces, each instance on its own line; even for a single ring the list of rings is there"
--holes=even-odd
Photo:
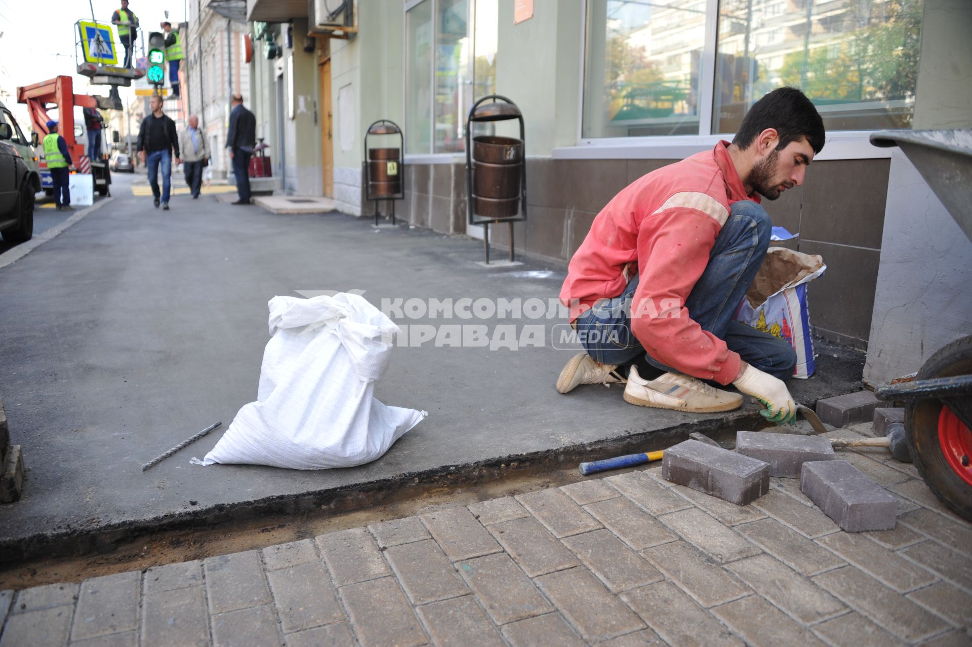
[[[678,412],[731,412],[743,406],[743,396],[713,388],[695,377],[666,373],[647,380],[632,366],[624,387],[624,401],[639,407],[674,409]]]

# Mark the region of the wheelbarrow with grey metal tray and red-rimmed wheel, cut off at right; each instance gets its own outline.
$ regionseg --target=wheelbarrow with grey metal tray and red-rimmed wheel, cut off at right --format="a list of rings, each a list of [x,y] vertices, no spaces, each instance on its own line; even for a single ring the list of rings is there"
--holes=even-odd
[[[900,146],[972,241],[972,130],[883,130],[875,146]],[[972,336],[946,345],[913,381],[875,389],[904,400],[905,438],[924,482],[958,516],[972,521]]]

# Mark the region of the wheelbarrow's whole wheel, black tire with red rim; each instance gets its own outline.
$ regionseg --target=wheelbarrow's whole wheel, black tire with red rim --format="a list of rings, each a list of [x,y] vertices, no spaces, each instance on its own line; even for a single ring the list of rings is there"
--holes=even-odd
[[[918,379],[972,375],[972,337],[953,341],[924,363]],[[972,521],[972,432],[941,400],[910,400],[905,437],[921,478],[956,515]]]

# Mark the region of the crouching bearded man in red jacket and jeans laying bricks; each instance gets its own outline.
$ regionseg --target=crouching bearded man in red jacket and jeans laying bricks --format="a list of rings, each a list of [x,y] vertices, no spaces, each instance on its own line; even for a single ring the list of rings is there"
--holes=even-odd
[[[823,148],[823,122],[800,90],[773,90],[746,113],[732,143],[644,175],[611,199],[571,259],[561,301],[586,353],[568,362],[557,390],[626,382],[642,407],[726,412],[739,393],[774,422],[796,405],[783,379],[796,353],[784,340],[733,321],[770,243],[760,196],[803,184]],[[638,370],[661,374],[645,379]],[[627,379],[623,377],[628,369]]]

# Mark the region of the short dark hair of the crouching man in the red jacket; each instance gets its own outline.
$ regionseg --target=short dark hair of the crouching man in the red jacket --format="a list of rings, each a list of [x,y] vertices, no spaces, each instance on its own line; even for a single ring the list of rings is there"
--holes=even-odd
[[[803,138],[814,153],[823,148],[823,120],[807,95],[796,88],[777,88],[753,103],[732,143],[746,150],[766,128],[776,128],[780,134],[778,151]]]

